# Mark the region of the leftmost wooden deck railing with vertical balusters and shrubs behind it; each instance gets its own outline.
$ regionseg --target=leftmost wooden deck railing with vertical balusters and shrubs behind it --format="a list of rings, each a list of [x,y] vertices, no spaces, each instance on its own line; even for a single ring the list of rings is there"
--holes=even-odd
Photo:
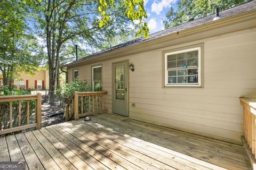
[[[42,96],[40,93],[37,95],[0,96],[0,103],[6,103],[2,107],[7,107],[2,109],[5,109],[7,113],[9,112],[9,115],[2,115],[6,123],[0,127],[0,135],[29,128],[41,129],[41,99]],[[35,108],[31,108],[31,106],[34,106],[34,102]],[[13,111],[18,113],[14,113]],[[34,119],[33,121],[31,120],[32,118]]]

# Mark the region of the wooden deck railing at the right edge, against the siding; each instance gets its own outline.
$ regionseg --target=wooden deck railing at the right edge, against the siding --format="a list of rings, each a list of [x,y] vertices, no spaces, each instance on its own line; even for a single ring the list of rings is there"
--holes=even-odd
[[[256,169],[256,98],[240,98],[244,113],[242,142],[253,169]]]

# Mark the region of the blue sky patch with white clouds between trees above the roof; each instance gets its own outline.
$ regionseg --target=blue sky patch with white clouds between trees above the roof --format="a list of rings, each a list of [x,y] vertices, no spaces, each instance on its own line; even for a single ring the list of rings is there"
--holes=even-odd
[[[150,33],[164,29],[162,20],[171,6],[176,10],[177,2],[177,0],[144,0],[144,7],[148,16],[146,22]]]

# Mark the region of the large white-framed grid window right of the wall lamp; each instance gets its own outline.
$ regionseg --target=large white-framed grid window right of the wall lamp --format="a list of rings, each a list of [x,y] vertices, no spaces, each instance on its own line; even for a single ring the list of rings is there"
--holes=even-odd
[[[164,54],[165,87],[201,87],[201,47]]]

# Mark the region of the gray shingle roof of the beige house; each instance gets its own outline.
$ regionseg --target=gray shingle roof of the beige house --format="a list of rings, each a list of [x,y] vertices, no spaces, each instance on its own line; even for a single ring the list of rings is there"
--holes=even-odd
[[[244,3],[242,5],[238,5],[238,6],[229,8],[227,10],[221,11],[220,16],[222,18],[226,18],[228,16],[232,16],[232,15],[236,15],[236,14],[243,13],[243,12],[246,12],[246,11],[250,11],[250,10],[253,10],[255,8],[256,8],[256,0],[253,0],[251,2],[247,2],[247,3]],[[92,57],[95,57],[95,56],[99,56],[101,54],[104,54],[104,53],[107,53],[107,52],[110,52],[110,51],[113,51],[113,50],[116,50],[116,49],[119,49],[119,48],[139,44],[139,43],[142,43],[143,41],[148,41],[148,40],[151,40],[151,39],[166,36],[166,35],[169,35],[169,34],[174,33],[174,32],[178,32],[178,31],[181,31],[181,30],[186,30],[188,28],[193,28],[193,27],[196,27],[198,25],[202,25],[202,24],[213,21],[214,17],[215,17],[215,14],[207,15],[207,16],[204,16],[202,18],[198,18],[196,20],[177,25],[175,27],[171,27],[171,28],[168,28],[168,29],[165,29],[165,30],[162,30],[162,31],[151,33],[148,36],[148,38],[146,38],[146,39],[143,38],[143,37],[140,37],[140,38],[136,38],[136,39],[133,39],[133,40],[130,40],[130,41],[126,41],[125,43],[118,44],[114,47],[108,48],[106,50],[102,50],[101,52],[94,53],[94,54],[89,55],[89,56],[85,56],[85,57],[79,59],[78,61],[86,60],[88,58],[92,58]],[[75,62],[78,62],[78,61],[75,61]]]

